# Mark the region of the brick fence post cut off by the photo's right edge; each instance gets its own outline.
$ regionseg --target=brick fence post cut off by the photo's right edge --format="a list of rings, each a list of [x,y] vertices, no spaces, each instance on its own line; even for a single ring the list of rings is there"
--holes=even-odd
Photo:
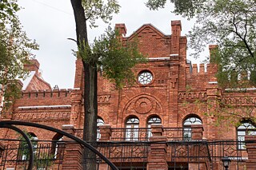
[[[255,169],[256,168],[256,136],[255,135],[246,135],[246,150],[248,153],[248,160],[246,160],[246,169]]]

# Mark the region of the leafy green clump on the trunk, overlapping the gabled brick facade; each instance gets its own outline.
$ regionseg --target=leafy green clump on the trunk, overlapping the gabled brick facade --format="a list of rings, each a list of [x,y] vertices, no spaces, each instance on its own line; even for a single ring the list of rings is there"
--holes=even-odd
[[[85,50],[79,48],[83,61],[96,63],[98,71],[118,89],[124,85],[133,85],[135,80],[132,68],[138,63],[146,62],[146,58],[138,51],[136,41],[123,46],[118,32],[110,27],[106,34],[94,39],[94,43],[86,47]]]

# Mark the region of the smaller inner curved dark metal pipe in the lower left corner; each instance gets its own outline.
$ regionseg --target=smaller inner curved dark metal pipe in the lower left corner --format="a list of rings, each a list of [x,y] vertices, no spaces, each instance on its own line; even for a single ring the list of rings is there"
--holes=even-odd
[[[8,124],[2,125],[2,124],[0,124],[0,128],[10,128],[10,129],[13,129],[14,131],[19,132],[20,134],[22,134],[22,136],[26,140],[26,143],[28,144],[29,151],[30,151],[30,162],[29,162],[28,169],[32,170],[33,163],[34,163],[34,148],[33,148],[33,145],[31,143],[30,138],[20,128],[17,128],[13,125],[8,125]]]

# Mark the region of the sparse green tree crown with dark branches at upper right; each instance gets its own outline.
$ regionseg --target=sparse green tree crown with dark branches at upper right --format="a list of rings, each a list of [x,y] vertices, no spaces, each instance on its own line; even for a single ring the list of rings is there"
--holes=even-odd
[[[197,15],[197,22],[189,38],[194,57],[198,57],[206,45],[218,44],[218,53],[214,53],[213,62],[218,64],[218,82],[220,85],[246,87],[246,83],[256,84],[256,3],[251,0],[208,0]],[[232,81],[237,75],[250,74],[250,81],[238,85]]]

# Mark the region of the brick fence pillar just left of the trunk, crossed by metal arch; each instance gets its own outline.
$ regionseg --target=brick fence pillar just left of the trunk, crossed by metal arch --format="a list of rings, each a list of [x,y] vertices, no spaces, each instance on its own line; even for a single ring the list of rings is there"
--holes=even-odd
[[[62,125],[62,130],[74,135],[74,125]],[[64,137],[63,140],[71,140]],[[66,143],[62,170],[82,170],[82,146],[77,143]]]

